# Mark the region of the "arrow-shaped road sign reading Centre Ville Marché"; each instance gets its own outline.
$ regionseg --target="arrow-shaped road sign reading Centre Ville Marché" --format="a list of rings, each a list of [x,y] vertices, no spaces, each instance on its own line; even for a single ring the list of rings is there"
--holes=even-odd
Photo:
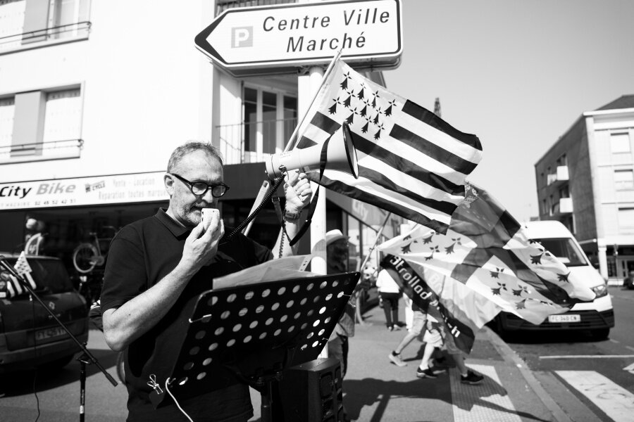
[[[357,69],[395,68],[403,50],[401,0],[318,1],[230,8],[195,39],[235,76],[297,72],[337,51]]]

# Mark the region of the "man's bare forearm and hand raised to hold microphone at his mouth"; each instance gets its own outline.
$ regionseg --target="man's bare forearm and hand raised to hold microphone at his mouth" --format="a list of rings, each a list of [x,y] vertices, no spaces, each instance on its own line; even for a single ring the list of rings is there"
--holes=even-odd
[[[201,222],[187,237],[178,265],[161,281],[120,307],[106,309],[104,337],[112,350],[125,349],[154,327],[174,306],[194,274],[216,255],[225,232],[222,220],[215,230],[203,231]]]

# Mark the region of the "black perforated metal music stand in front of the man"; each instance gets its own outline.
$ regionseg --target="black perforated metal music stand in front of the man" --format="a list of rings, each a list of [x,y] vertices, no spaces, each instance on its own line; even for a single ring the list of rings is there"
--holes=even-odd
[[[175,397],[219,388],[207,373],[224,365],[261,393],[262,421],[271,421],[273,383],[284,369],[319,356],[360,276],[311,276],[201,293],[170,377]]]

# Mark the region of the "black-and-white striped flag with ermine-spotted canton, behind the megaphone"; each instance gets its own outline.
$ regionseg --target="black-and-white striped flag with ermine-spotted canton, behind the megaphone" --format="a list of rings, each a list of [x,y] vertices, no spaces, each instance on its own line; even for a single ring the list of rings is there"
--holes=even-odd
[[[312,181],[445,233],[480,162],[477,136],[361,76],[341,60],[323,81],[299,127],[297,148],[323,144],[349,124],[359,179],[334,170]]]

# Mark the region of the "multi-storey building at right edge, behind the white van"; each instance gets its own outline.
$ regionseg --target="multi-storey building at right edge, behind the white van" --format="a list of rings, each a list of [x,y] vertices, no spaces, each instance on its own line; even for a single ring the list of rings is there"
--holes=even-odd
[[[634,270],[634,95],[583,113],[535,164],[540,219],[575,235],[604,279]]]

